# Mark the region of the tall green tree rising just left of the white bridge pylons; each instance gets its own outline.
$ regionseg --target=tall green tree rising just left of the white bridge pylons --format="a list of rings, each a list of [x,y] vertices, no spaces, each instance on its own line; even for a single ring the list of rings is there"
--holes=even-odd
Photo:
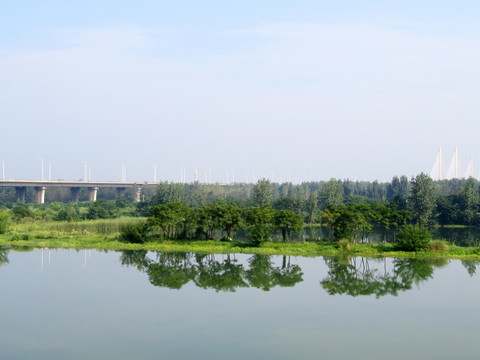
[[[411,180],[411,193],[408,199],[412,219],[420,226],[433,225],[435,218],[436,196],[433,180],[424,174]]]

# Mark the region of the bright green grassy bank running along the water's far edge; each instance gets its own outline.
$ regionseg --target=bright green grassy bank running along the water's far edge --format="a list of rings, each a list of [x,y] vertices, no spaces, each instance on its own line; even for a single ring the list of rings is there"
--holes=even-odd
[[[270,255],[337,255],[386,257],[442,257],[480,260],[480,247],[447,245],[439,250],[420,252],[396,251],[393,244],[352,244],[337,242],[265,242],[253,246],[248,242],[220,242],[204,240],[150,241],[129,244],[118,241],[123,225],[138,218],[92,220],[81,222],[32,222],[16,224],[11,232],[0,235],[0,246],[32,248],[74,248],[106,250],[187,251],[202,253],[248,253]]]

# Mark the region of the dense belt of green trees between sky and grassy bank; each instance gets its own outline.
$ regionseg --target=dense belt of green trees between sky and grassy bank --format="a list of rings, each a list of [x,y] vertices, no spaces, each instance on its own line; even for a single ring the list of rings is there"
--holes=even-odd
[[[126,197],[116,198],[108,189],[99,192],[96,202],[51,201],[68,200],[64,190],[49,190],[47,204],[33,204],[13,202],[13,188],[0,189],[0,231],[8,231],[10,224],[30,221],[138,216],[147,220],[137,228],[125,228],[125,241],[214,239],[219,233],[229,241],[237,230],[246,229],[252,242],[260,244],[272,240],[275,232],[281,234],[281,240],[289,241],[304,224],[322,224],[337,241],[364,241],[374,227],[380,227],[384,241],[395,242],[398,231],[407,223],[428,228],[480,222],[475,179],[433,182],[423,173],[410,181],[406,176],[395,176],[389,183],[337,179],[300,185],[266,179],[257,184],[232,185],[163,182],[156,189],[145,187],[139,203],[132,202],[129,192]],[[31,196],[27,194],[27,201]]]

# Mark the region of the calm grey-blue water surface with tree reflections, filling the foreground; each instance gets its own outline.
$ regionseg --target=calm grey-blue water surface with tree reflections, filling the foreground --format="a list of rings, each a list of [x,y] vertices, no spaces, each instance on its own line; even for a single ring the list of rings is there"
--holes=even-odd
[[[476,359],[478,262],[0,251],[1,359]]]

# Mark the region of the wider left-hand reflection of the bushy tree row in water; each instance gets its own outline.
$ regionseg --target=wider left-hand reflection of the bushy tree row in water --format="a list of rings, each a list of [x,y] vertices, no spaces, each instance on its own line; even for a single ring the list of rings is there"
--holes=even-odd
[[[234,254],[204,255],[192,253],[156,253],[156,259],[146,251],[127,250],[120,256],[124,266],[145,272],[150,283],[170,289],[181,289],[190,281],[203,289],[233,292],[238,288],[255,287],[268,291],[275,286],[295,286],[303,281],[300,266],[283,256],[282,265],[275,266],[268,255],[252,255],[248,267],[240,264]]]

